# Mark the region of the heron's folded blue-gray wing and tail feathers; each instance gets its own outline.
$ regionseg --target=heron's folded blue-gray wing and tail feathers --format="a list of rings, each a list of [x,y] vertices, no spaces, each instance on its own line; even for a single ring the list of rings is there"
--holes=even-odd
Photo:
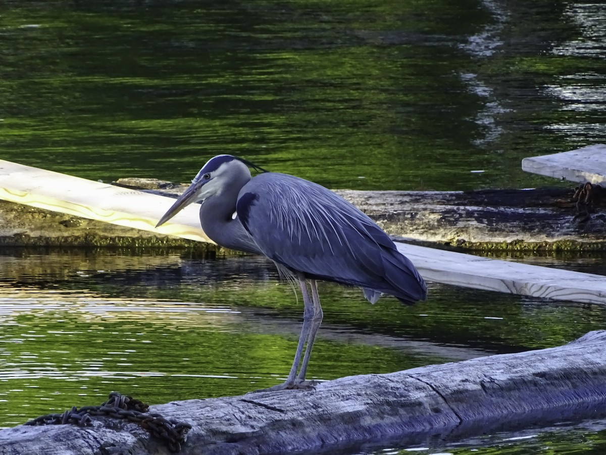
[[[285,174],[258,175],[242,188],[236,212],[261,251],[293,271],[404,302],[425,298],[421,276],[387,234],[318,184]],[[365,295],[376,300],[370,291]]]

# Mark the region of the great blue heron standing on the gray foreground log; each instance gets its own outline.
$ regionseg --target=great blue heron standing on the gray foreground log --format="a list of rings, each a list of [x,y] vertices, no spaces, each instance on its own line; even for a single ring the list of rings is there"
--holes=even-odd
[[[262,173],[251,177],[249,166]],[[225,248],[265,255],[301,286],[303,326],[295,360],[287,380],[271,389],[310,385],[305,373],[322,320],[317,280],[360,286],[371,303],[381,294],[407,304],[427,296],[423,278],[387,234],[353,204],[316,183],[218,155],[204,164],[156,227],[198,201],[209,238]]]

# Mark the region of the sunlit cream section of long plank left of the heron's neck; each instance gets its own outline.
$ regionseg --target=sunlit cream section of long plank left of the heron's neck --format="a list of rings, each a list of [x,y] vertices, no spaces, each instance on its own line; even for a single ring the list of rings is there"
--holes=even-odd
[[[156,229],[174,199],[11,161],[0,160],[0,198],[90,220],[211,242],[200,227],[197,204],[185,207]]]

